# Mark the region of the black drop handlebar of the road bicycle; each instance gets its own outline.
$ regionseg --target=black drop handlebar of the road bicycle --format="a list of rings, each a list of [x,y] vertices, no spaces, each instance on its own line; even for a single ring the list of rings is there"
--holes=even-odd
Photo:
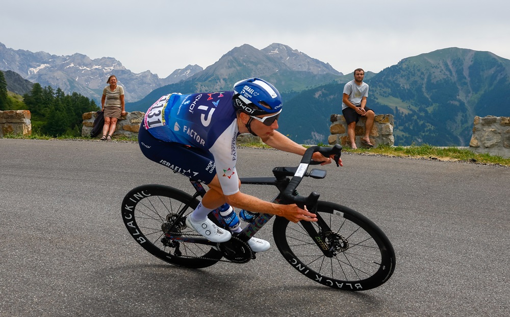
[[[294,191],[296,190],[297,186],[303,179],[304,174],[307,173],[308,166],[310,164],[320,164],[320,162],[312,161],[312,156],[314,155],[315,152],[319,152],[325,157],[330,157],[333,155],[335,163],[337,163],[337,166],[339,166],[338,160],[340,159],[340,155],[342,154],[342,147],[339,144],[336,144],[333,148],[319,147],[318,145],[315,145],[313,147],[308,148],[307,151],[304,152],[301,162],[297,167],[296,173],[290,180],[289,185],[287,185],[287,187],[283,191],[284,200],[286,202],[298,205],[299,208],[301,209],[304,209],[305,205],[310,207],[315,206],[320,196],[315,191],[310,193],[308,197],[294,196]]]

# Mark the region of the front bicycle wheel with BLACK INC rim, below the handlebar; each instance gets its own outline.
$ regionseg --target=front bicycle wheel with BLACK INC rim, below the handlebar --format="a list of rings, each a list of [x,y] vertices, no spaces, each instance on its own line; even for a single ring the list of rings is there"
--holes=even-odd
[[[273,236],[278,250],[299,273],[343,290],[367,290],[385,283],[395,270],[390,240],[362,214],[318,202],[318,222],[297,224],[277,217]]]

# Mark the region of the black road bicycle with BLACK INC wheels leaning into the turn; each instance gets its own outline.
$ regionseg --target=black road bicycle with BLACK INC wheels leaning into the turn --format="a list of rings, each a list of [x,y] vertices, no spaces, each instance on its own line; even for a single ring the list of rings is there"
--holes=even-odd
[[[348,207],[319,201],[312,192],[303,197],[296,191],[304,177],[323,179],[326,171],[313,168],[312,155],[335,155],[338,165],[342,147],[311,147],[297,167],[275,167],[274,177],[243,177],[242,184],[271,185],[279,193],[277,204],[307,206],[317,222],[292,223],[276,216],[273,238],[278,251],[299,273],[323,285],[342,290],[367,290],[385,283],[395,270],[395,252],[388,237],[372,221]],[[186,216],[206,193],[190,179],[193,195],[169,186],[142,185],[122,201],[122,220],[131,236],[150,254],[168,263],[200,269],[226,261],[246,263],[256,259],[248,239],[273,217],[260,213],[239,234],[222,243],[211,242],[186,226]],[[228,228],[218,210],[209,214],[217,225]]]

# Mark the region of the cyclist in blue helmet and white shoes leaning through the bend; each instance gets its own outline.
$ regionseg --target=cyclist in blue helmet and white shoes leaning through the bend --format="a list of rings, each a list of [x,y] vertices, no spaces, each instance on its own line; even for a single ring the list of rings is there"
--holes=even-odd
[[[209,190],[186,218],[186,224],[210,241],[225,242],[232,236],[207,217],[225,203],[251,212],[284,216],[294,223],[317,221],[306,207],[273,204],[239,191],[239,134],[249,132],[275,149],[304,154],[304,147],[276,131],[281,111],[278,90],[258,78],[237,82],[234,91],[167,94],[147,110],[138,134],[140,149],[150,160],[208,185]],[[313,159],[321,164],[331,162],[320,153],[315,153]],[[255,237],[248,244],[254,252],[270,247],[268,241]]]

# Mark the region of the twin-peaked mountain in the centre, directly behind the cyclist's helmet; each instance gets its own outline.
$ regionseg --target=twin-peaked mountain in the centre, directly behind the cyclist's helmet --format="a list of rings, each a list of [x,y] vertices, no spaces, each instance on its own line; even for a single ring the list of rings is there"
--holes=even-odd
[[[342,76],[328,63],[284,44],[273,43],[262,50],[244,44],[233,48],[216,63],[188,79],[155,89],[140,101],[126,104],[126,109],[145,111],[160,96],[169,92],[229,90],[238,80],[250,77],[263,78],[279,91],[292,94],[330,83]]]

